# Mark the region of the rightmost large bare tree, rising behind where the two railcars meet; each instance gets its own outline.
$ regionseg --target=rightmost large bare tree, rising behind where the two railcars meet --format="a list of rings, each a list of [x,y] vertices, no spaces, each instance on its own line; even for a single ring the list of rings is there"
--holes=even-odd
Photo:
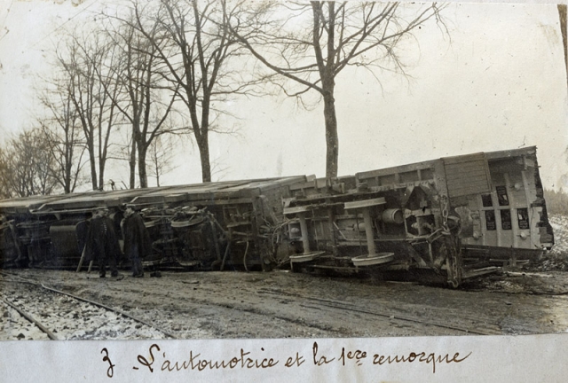
[[[288,96],[310,90],[323,99],[326,176],[337,176],[339,139],[335,79],[348,66],[383,68],[406,74],[399,45],[429,20],[440,20],[444,5],[311,1],[259,2],[231,21],[231,31],[272,73]],[[236,21],[235,21],[236,20]],[[375,72],[372,72],[376,77]]]

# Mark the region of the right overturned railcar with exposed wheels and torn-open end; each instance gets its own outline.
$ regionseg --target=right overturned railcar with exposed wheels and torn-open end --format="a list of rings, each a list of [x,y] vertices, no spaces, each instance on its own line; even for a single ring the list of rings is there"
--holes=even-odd
[[[554,244],[535,147],[316,181],[287,204],[296,270],[429,271],[457,286]]]

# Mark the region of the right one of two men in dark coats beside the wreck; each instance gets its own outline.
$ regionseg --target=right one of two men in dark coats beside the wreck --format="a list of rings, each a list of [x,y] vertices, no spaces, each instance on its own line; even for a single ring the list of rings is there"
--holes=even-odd
[[[132,277],[144,277],[142,260],[152,252],[152,240],[142,217],[132,205],[126,205],[124,221],[124,254],[132,262]]]

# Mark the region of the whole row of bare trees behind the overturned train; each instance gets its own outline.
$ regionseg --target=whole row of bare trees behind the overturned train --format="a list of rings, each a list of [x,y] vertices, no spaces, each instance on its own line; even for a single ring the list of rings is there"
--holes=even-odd
[[[323,101],[326,176],[337,176],[335,80],[349,66],[378,82],[406,75],[398,51],[445,5],[375,2],[133,0],[69,30],[53,51],[53,75],[37,91],[44,113],[0,152],[0,194],[23,197],[117,187],[109,160],[128,164],[125,187],[171,168],[170,137],[189,135],[211,181],[209,133],[239,97]],[[306,98],[309,94],[316,98]]]

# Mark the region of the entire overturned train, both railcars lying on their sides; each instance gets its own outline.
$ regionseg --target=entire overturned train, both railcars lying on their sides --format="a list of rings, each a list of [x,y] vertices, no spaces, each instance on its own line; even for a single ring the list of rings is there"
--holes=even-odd
[[[291,176],[0,201],[4,267],[75,266],[91,211],[141,210],[146,266],[366,271],[449,285],[554,244],[536,148],[318,179]],[[122,260],[126,264],[128,260]]]

